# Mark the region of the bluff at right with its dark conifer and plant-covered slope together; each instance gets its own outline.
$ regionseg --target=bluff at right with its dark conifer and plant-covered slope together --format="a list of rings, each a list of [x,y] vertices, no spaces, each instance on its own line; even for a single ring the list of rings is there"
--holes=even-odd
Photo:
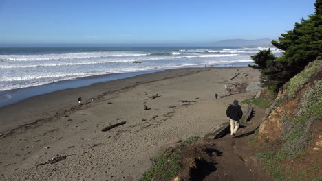
[[[249,65],[261,72],[266,88],[280,90],[265,117],[269,123],[281,123],[281,133],[266,129],[268,136],[279,134],[279,138],[268,141],[264,132],[257,132],[248,140],[275,180],[322,180],[321,160],[316,160],[321,158],[316,151],[320,148],[314,147],[320,141],[322,120],[322,0],[314,6],[314,14],[272,41],[283,56],[262,50],[252,56],[255,65]]]

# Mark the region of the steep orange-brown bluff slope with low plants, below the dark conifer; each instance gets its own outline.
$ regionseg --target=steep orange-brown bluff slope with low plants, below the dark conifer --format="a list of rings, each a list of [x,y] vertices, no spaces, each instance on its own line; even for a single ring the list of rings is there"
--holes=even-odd
[[[257,160],[275,180],[321,180],[322,60],[307,67],[267,108],[255,136]]]

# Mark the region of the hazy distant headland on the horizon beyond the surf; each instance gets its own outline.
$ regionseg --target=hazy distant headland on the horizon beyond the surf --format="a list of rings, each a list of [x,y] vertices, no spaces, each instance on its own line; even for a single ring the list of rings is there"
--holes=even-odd
[[[272,40],[269,38],[255,39],[255,40],[244,40],[244,39],[231,39],[231,40],[220,40],[211,43],[214,47],[250,47],[250,46],[272,46],[270,43]]]

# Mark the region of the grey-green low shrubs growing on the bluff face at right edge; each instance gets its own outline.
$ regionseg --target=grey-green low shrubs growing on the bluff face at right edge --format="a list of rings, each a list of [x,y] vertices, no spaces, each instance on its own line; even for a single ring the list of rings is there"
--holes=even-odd
[[[314,64],[312,64],[314,67]],[[316,80],[299,99],[295,117],[282,117],[283,148],[281,152],[289,158],[303,156],[303,149],[309,145],[312,132],[310,125],[322,119],[322,80]]]

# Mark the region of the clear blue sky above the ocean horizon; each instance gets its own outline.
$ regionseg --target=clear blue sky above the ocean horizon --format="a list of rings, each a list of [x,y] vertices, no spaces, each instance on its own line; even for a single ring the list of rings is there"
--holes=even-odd
[[[0,0],[0,45],[275,39],[315,0]]]

